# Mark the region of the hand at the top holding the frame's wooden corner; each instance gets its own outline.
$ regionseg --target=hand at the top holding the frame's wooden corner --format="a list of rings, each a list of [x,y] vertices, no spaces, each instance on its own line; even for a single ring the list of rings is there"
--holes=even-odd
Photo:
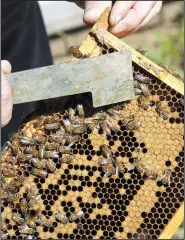
[[[162,1],[116,1],[113,6],[112,1],[85,1],[84,22],[94,24],[107,7],[111,8],[109,31],[122,38],[149,23],[160,12]]]

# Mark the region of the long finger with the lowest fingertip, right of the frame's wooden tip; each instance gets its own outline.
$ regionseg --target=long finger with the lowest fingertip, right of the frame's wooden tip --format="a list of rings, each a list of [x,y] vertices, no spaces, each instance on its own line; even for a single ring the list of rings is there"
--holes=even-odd
[[[110,32],[117,37],[125,37],[132,33],[149,14],[156,1],[137,1],[129,10],[126,17],[115,27],[110,28]]]

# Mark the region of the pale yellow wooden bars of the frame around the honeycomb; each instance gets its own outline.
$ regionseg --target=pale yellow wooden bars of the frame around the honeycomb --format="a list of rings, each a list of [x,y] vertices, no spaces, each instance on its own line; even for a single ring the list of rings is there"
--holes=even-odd
[[[162,67],[158,66],[147,57],[139,53],[138,51],[119,40],[117,37],[108,32],[108,18],[110,8],[106,8],[97,23],[92,27],[87,37],[82,41],[79,49],[83,54],[89,54],[90,57],[99,56],[101,54],[101,48],[97,45],[94,36],[102,44],[107,44],[117,51],[128,49],[132,54],[132,61],[139,65],[142,69],[152,74],[154,77],[164,82],[180,94],[184,96],[184,83],[180,79],[176,78]],[[73,57],[71,61],[78,60]],[[175,213],[174,217],[169,221],[168,225],[163,230],[162,234],[158,239],[170,239],[176,232],[184,219],[184,203],[181,204],[180,208]]]

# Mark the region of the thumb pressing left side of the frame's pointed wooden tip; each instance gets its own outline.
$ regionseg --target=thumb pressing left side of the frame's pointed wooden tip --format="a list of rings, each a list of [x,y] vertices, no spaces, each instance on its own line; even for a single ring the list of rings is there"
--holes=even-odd
[[[94,24],[107,7],[112,6],[112,1],[86,1],[83,21]]]

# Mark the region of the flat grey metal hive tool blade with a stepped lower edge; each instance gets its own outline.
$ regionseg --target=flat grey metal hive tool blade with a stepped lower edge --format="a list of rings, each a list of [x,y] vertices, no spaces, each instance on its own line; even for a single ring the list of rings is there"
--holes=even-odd
[[[100,107],[135,97],[129,50],[11,73],[7,79],[14,104],[91,92],[93,106]]]

